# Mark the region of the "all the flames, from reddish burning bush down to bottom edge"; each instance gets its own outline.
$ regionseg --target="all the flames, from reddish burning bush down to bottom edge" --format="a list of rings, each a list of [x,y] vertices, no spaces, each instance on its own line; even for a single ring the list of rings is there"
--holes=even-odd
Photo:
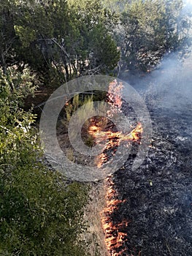
[[[109,85],[108,99],[111,105],[111,110],[107,112],[109,117],[114,116],[121,112],[122,107],[122,94],[123,84],[118,83],[114,80]],[[103,145],[102,153],[97,159],[97,166],[100,168],[105,162],[109,160],[108,151],[112,155],[117,151],[118,146],[122,142],[130,144],[132,142],[141,143],[142,136],[142,124],[138,123],[137,126],[131,130],[128,134],[123,134],[123,132],[114,132],[112,127],[114,125],[107,126],[107,118],[104,120],[98,120],[97,118],[91,118],[91,125],[88,127],[88,133],[95,140],[96,144]],[[105,124],[105,127],[99,125]],[[110,129],[107,127],[110,127]],[[124,255],[127,251],[125,249],[127,238],[126,228],[128,223],[125,219],[123,222],[114,222],[112,214],[118,210],[120,205],[125,202],[125,200],[118,200],[118,193],[115,190],[115,184],[112,181],[112,176],[109,176],[105,180],[106,187],[106,206],[101,212],[101,225],[104,230],[105,244],[112,256]],[[124,248],[123,248],[124,247]],[[128,255],[126,253],[126,255]]]

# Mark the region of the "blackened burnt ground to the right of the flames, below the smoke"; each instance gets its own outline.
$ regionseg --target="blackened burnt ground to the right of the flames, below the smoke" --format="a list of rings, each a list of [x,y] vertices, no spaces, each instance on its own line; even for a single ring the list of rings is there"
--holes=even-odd
[[[183,105],[182,105],[183,103]],[[148,105],[152,148],[137,169],[131,154],[113,176],[118,199],[113,222],[128,226],[120,255],[192,255],[192,113],[191,101],[177,108]]]

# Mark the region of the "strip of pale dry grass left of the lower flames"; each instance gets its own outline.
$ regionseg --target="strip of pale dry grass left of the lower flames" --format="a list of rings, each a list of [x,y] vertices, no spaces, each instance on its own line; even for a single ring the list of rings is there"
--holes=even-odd
[[[84,220],[88,225],[88,230],[82,234],[82,239],[88,243],[87,255],[109,256],[104,243],[104,231],[101,226],[101,211],[106,203],[104,182],[93,184],[90,198],[91,200],[85,207],[84,213]]]

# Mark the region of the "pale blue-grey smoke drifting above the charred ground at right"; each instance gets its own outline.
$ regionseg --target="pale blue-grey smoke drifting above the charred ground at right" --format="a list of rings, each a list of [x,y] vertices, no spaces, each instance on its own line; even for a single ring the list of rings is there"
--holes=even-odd
[[[192,1],[185,0],[183,15],[192,14]],[[191,19],[192,20],[192,19]],[[192,39],[192,29],[188,44]],[[161,110],[166,115],[180,115],[191,110],[192,119],[192,47],[190,46],[182,60],[180,52],[167,54],[161,64],[149,74],[129,75],[126,81],[134,86],[144,97],[150,110]]]

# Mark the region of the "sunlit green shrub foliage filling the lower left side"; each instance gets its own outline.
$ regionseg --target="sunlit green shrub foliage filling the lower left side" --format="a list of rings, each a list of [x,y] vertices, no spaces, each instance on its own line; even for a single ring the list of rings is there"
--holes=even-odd
[[[87,189],[38,160],[35,116],[20,108],[28,75],[10,69],[0,81],[0,255],[85,255],[77,238]]]

